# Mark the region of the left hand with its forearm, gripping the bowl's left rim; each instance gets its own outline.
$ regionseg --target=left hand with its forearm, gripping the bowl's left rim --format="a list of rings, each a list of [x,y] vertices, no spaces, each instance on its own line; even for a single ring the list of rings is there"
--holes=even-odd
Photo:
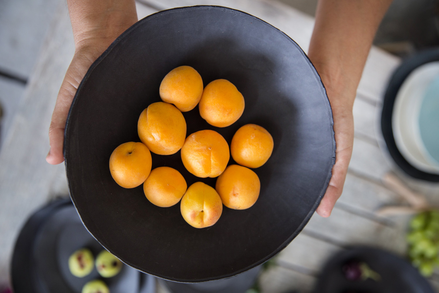
[[[75,40],[75,54],[58,92],[49,128],[46,161],[64,161],[64,128],[79,83],[90,65],[127,28],[137,22],[134,0],[67,0]]]

